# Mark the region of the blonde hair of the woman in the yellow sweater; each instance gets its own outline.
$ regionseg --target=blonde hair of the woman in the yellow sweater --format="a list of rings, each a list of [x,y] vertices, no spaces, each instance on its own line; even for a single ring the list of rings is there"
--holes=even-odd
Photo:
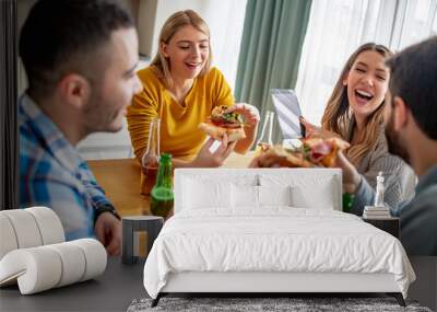
[[[154,66],[158,70],[158,73],[162,76],[161,78],[164,80],[167,88],[173,86],[173,78],[170,74],[168,59],[162,53],[161,46],[162,44],[168,44],[177,31],[188,25],[193,26],[199,32],[205,34],[208,38],[210,38],[210,27],[208,27],[206,22],[192,10],[178,11],[169,16],[167,21],[165,21],[164,26],[162,27],[160,33],[158,50],[156,56],[152,60],[151,66]],[[208,44],[210,46],[210,54],[208,56],[206,63],[203,66],[200,72],[200,76],[205,74],[211,68],[212,51],[210,42]]]

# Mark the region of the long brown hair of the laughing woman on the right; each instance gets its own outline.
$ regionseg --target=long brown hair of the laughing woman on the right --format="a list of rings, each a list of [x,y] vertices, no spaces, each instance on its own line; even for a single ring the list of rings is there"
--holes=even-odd
[[[335,83],[334,90],[329,97],[327,107],[324,108],[323,117],[321,119],[322,129],[339,134],[347,141],[351,139],[351,135],[355,128],[355,118],[349,104],[347,85],[343,85],[343,80],[346,78],[358,55],[368,50],[379,53],[385,59],[393,55],[393,53],[390,51],[390,49],[388,49],[386,46],[377,45],[375,43],[364,44],[358,47],[344,65],[340,78]],[[347,159],[354,165],[357,165],[363,157],[377,143],[381,131],[383,106],[385,101],[374,113],[367,117],[365,130],[361,132],[357,143],[351,146],[351,148],[346,151]]]

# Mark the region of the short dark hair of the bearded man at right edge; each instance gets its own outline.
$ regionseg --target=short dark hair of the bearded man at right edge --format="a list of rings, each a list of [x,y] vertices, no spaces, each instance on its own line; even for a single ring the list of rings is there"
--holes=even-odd
[[[391,95],[401,97],[422,131],[437,139],[437,36],[405,48],[387,66]]]

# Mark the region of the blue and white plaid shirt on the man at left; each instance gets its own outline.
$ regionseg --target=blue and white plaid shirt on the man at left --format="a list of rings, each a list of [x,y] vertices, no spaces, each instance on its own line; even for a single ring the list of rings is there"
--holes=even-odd
[[[20,207],[54,209],[68,241],[93,236],[96,211],[115,209],[86,162],[26,94],[19,100],[19,125]]]

